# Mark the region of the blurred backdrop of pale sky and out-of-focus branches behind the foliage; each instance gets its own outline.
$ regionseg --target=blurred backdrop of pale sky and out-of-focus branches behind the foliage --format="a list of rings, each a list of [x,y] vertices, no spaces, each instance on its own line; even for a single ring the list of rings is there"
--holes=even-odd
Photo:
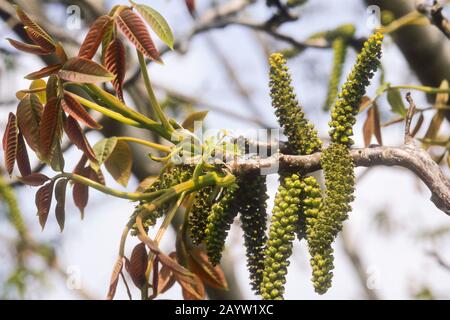
[[[290,1],[295,2],[295,1]],[[270,104],[268,90],[268,55],[284,50],[291,53],[289,67],[296,92],[308,117],[320,136],[326,139],[329,114],[322,108],[332,70],[333,52],[325,38],[311,36],[334,30],[342,24],[356,28],[354,46],[347,52],[344,75],[356,58],[355,48],[372,32],[373,13],[377,5],[391,21],[415,10],[408,0],[340,0],[297,1],[288,8],[286,1],[197,0],[191,15],[183,0],[153,0],[141,3],[157,9],[171,25],[176,39],[174,51],[158,42],[164,54],[164,65],[150,64],[149,70],[158,98],[168,112],[182,121],[193,110],[209,110],[206,126],[234,132],[250,128],[278,128]],[[88,27],[94,19],[109,12],[122,1],[6,1],[0,0],[0,131],[7,115],[17,106],[15,93],[28,88],[25,74],[42,68],[49,61],[15,51],[5,38],[20,39],[17,21],[11,17],[12,4],[21,5],[50,34],[76,54]],[[281,6],[278,4],[281,3]],[[268,4],[272,4],[269,6]],[[450,15],[444,5],[444,15]],[[375,15],[375,22],[378,16]],[[423,17],[425,18],[425,17]],[[426,19],[426,18],[425,18]],[[450,80],[450,41],[429,21],[423,19],[392,31],[384,44],[383,74],[377,74],[368,90],[376,96],[380,83],[393,85],[428,85],[439,87]],[[130,49],[131,50],[131,49]],[[126,100],[137,110],[146,112],[145,88],[133,74],[138,70],[134,55],[128,56],[129,79]],[[401,91],[402,96],[406,93]],[[418,138],[427,135],[438,111],[433,109],[435,96],[413,91],[416,104],[423,112],[423,125]],[[448,100],[448,97],[447,97]],[[378,99],[383,144],[403,143],[404,122],[395,122],[395,113],[382,95]],[[448,111],[447,111],[448,112]],[[358,117],[356,147],[364,147],[363,124]],[[444,115],[433,140],[430,153],[449,174],[447,166],[449,115]],[[142,131],[129,131],[117,123],[103,121],[105,136],[138,135],[152,139]],[[391,124],[392,123],[392,124]],[[384,124],[384,126],[383,126]],[[433,130],[434,130],[433,129]],[[88,133],[91,144],[102,138],[98,132]],[[445,143],[441,143],[446,141]],[[372,141],[375,143],[375,139]],[[420,142],[419,142],[420,143]],[[73,168],[79,150],[67,147],[67,168]],[[133,179],[129,190],[139,181],[154,175],[159,168],[144,149],[133,149]],[[33,164],[43,173],[51,170]],[[3,160],[2,162],[3,163]],[[314,293],[310,283],[308,252],[304,243],[296,243],[291,258],[286,299],[448,299],[450,298],[450,218],[429,201],[430,192],[411,172],[400,168],[358,168],[356,201],[350,220],[335,244],[336,269],[334,284],[324,295]],[[9,184],[4,170],[2,177]],[[271,200],[278,176],[269,177]],[[111,177],[107,184],[121,188]],[[25,221],[27,237],[23,238],[8,219],[8,207],[0,197],[0,297],[4,299],[103,299],[120,241],[121,231],[133,212],[133,203],[114,199],[93,190],[84,221],[68,197],[66,229],[59,232],[50,216],[41,232],[34,194],[36,189],[12,184]],[[271,209],[269,201],[269,209]],[[238,223],[238,222],[236,222]],[[174,249],[174,232],[162,242],[162,249]],[[134,239],[133,239],[134,240]],[[127,243],[130,251],[137,242]],[[255,299],[248,285],[243,262],[245,251],[240,228],[232,228],[223,268],[230,290],[208,290],[210,298]],[[133,296],[139,298],[137,290]],[[127,299],[123,284],[116,298]],[[175,286],[162,296],[181,298]]]

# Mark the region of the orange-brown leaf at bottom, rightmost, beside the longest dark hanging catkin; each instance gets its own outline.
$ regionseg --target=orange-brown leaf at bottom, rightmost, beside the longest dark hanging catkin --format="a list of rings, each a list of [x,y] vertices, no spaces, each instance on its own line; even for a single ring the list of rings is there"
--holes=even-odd
[[[212,266],[204,250],[194,248],[190,250],[189,255],[189,269],[198,275],[203,282],[216,289],[228,289],[227,280],[222,269],[220,266]]]

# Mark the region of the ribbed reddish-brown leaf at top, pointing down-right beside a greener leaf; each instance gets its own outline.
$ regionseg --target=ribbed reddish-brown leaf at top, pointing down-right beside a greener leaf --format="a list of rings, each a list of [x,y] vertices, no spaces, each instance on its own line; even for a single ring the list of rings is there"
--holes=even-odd
[[[148,58],[156,62],[162,62],[147,26],[137,14],[130,9],[125,9],[116,19],[119,29],[136,49]]]

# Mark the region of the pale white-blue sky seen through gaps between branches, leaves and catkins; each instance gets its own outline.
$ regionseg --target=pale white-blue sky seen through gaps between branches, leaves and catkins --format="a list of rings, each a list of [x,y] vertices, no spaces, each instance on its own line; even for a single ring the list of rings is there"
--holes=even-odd
[[[178,0],[146,1],[158,9],[172,26],[175,37],[183,37],[193,25],[192,18],[187,14]],[[199,2],[199,11],[204,8],[203,1]],[[115,2],[120,3],[120,2]],[[113,2],[108,2],[113,5]],[[289,26],[283,26],[280,31],[305,39],[317,31],[333,29],[343,23],[354,23],[357,34],[367,36],[370,30],[366,26],[365,7],[359,0],[342,1],[309,1],[301,10],[301,19]],[[55,11],[56,12],[56,11]],[[58,11],[60,16],[64,11]],[[263,1],[254,5],[248,11],[249,16],[263,21],[268,12]],[[56,15],[56,13],[55,13]],[[63,22],[64,19],[60,20]],[[62,26],[64,27],[64,26]],[[4,37],[0,28],[0,37]],[[277,128],[276,118],[270,107],[268,83],[268,65],[265,55],[252,32],[240,27],[229,27],[224,30],[212,32],[211,38],[230,63],[238,70],[242,83],[251,93],[255,105],[260,108],[265,122]],[[80,37],[82,35],[80,34]],[[159,45],[162,46],[161,43]],[[285,48],[284,45],[270,42],[270,49],[277,51]],[[350,70],[356,54],[348,53],[345,73]],[[239,114],[251,115],[245,103],[237,97],[235,88],[227,78],[219,61],[210,50],[208,42],[202,36],[194,38],[188,53],[179,55],[170,53],[164,56],[164,66],[151,66],[150,72],[155,83],[167,86],[191,96],[199,96],[202,100],[212,104],[229,108]],[[309,49],[304,54],[289,61],[293,75],[294,85],[299,100],[306,110],[307,116],[313,121],[322,136],[326,135],[328,115],[321,111],[326,94],[327,77],[331,70],[332,54],[329,50]],[[27,82],[21,80],[20,75],[27,74],[40,65],[39,60],[21,57],[20,65],[15,74],[8,74],[8,78],[0,76],[0,96],[12,97],[12,93],[20,88],[27,87]],[[417,79],[409,70],[398,49],[388,37],[384,45],[383,65],[386,79],[393,84],[415,84]],[[377,79],[373,81],[368,94],[373,95],[377,87]],[[406,92],[403,92],[406,93]],[[413,95],[418,105],[425,105],[426,100],[421,93]],[[382,119],[386,121],[392,117],[389,105],[385,98],[381,99]],[[13,106],[12,106],[13,107]],[[11,109],[12,110],[12,109]],[[9,111],[0,109],[0,121],[4,121],[2,113]],[[428,119],[429,120],[429,119]],[[363,146],[362,123],[364,118],[358,118],[356,126],[356,147]],[[426,123],[426,122],[425,122]],[[220,112],[212,110],[207,118],[210,128],[226,128],[227,130],[246,130],[257,128],[254,124],[245,121],[230,119]],[[0,128],[5,123],[0,122]],[[0,130],[3,131],[3,130]],[[448,125],[443,128],[448,135]],[[423,134],[423,129],[421,131]],[[419,133],[419,136],[420,134]],[[396,125],[383,130],[385,145],[402,144],[403,126]],[[89,135],[92,143],[101,137],[98,134]],[[67,167],[73,167],[79,158],[79,152],[71,150],[68,153]],[[357,169],[360,174],[365,169]],[[45,173],[51,174],[50,171]],[[448,170],[447,170],[448,173]],[[271,200],[277,188],[278,177],[269,176],[269,191]],[[120,188],[108,177],[109,185]],[[132,179],[128,190],[134,190],[138,181]],[[92,292],[96,297],[106,295],[109,278],[120,241],[123,226],[133,211],[133,204],[124,200],[114,199],[91,191],[91,200],[86,209],[86,218],[80,221],[79,213],[75,210],[72,201],[68,201],[66,208],[67,222],[63,234],[58,232],[54,219],[49,219],[47,228],[40,232],[35,217],[34,198],[35,190],[22,188],[19,191],[20,205],[28,225],[33,229],[39,239],[52,241],[57,246],[58,256],[69,273],[80,276],[83,288]],[[405,299],[411,297],[411,292],[417,292],[422,287],[431,287],[440,298],[450,298],[450,273],[442,269],[429,257],[426,252],[436,248],[438,252],[450,261],[450,246],[445,243],[447,238],[436,242],[419,241],[418,235],[434,228],[450,227],[450,220],[440,212],[430,201],[430,193],[414,175],[400,168],[374,168],[358,184],[356,200],[350,220],[345,224],[351,244],[358,248],[366,266],[370,288],[381,298]],[[377,217],[386,212],[392,225],[392,232],[382,233],[377,229]],[[1,220],[0,220],[1,221]],[[4,230],[5,227],[0,227]],[[8,232],[7,230],[5,232]],[[127,243],[127,252],[131,252],[136,240]],[[230,233],[226,255],[234,261],[245,259],[243,251],[243,237],[238,225]],[[174,249],[174,233],[170,231],[161,245],[165,252]],[[355,272],[345,254],[341,242],[337,242],[336,269],[334,284],[324,296],[314,293],[310,282],[310,268],[308,264],[307,248],[304,243],[296,243],[289,268],[286,286],[286,299],[355,299],[362,297],[361,284],[357,281]],[[247,283],[248,273],[243,263],[236,263],[235,271],[239,283]],[[51,277],[53,278],[53,277]],[[34,293],[34,298],[71,299],[76,298],[73,291],[56,281],[49,282],[48,290]],[[243,286],[245,298],[255,298],[249,286]],[[137,291],[134,296],[138,297]],[[173,288],[163,295],[165,299],[180,298],[180,290]],[[126,299],[123,285],[119,285],[118,299]]]

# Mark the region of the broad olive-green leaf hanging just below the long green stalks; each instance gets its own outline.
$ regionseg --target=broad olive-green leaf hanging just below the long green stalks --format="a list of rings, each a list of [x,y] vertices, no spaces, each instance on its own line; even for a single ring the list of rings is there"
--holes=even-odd
[[[117,141],[114,151],[105,160],[108,172],[119,184],[126,187],[131,176],[133,165],[132,153],[128,143]]]

